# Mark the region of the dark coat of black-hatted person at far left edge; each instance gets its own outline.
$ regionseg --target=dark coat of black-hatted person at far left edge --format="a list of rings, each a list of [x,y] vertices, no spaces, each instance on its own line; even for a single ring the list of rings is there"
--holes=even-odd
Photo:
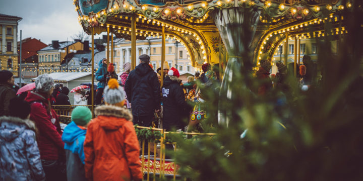
[[[0,84],[0,116],[9,115],[10,100],[15,98],[15,91],[8,84]]]

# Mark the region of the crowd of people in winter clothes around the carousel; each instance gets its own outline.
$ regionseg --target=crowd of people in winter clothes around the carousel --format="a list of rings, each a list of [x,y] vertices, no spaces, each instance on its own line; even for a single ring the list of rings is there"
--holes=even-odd
[[[35,79],[33,91],[17,97],[13,74],[0,71],[0,180],[141,180],[140,144],[134,125],[155,126],[155,118],[162,117],[158,127],[166,131],[191,130],[187,126],[195,127],[206,117],[199,86],[218,82],[219,65],[205,63],[201,74],[182,83],[178,70],[167,62],[163,70],[154,71],[150,56],[139,59],[134,70],[130,63],[123,65],[120,82],[114,65],[102,59],[95,76],[95,103],[99,105],[95,118],[87,107],[78,106],[64,130],[51,105],[70,105],[68,87],[54,84],[48,74],[42,74]],[[315,70],[310,57],[304,56],[303,62],[298,73],[303,81],[311,82]],[[274,76],[269,61],[261,60],[260,65],[256,77],[263,83],[256,90],[258,95],[284,86],[286,65],[276,63]],[[76,92],[75,103],[87,105],[86,97]]]

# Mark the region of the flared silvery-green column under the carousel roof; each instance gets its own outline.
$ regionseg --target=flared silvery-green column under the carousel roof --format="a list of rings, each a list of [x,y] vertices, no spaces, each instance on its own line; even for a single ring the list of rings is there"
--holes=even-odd
[[[212,14],[228,55],[219,93],[220,100],[233,99],[235,94],[233,94],[230,85],[237,73],[241,72],[243,66],[252,67],[253,59],[250,55],[253,52],[250,46],[256,33],[260,14],[261,10],[244,8],[215,10]],[[246,57],[251,57],[251,59]],[[231,117],[231,111],[226,110],[219,103],[219,124],[228,126]]]

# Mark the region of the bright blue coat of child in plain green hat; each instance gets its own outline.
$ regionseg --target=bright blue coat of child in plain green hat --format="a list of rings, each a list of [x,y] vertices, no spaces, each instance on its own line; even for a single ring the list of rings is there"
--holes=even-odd
[[[84,170],[83,143],[86,137],[86,129],[81,129],[75,122],[71,122],[62,135],[65,142],[67,180],[86,180]]]

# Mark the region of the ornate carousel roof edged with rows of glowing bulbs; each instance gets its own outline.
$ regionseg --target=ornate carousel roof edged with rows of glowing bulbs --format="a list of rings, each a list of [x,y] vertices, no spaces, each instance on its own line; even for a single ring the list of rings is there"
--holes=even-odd
[[[157,0],[98,0],[76,1],[79,22],[90,34],[110,32],[118,38],[131,40],[132,19],[136,19],[136,38],[161,36],[172,38],[187,47],[193,66],[220,59],[220,32],[216,22],[229,17],[218,11],[258,12],[256,36],[251,47],[256,47],[255,59],[268,57],[277,45],[288,36],[315,37],[332,34],[321,31],[325,21],[343,20],[341,12],[351,9],[350,1],[264,1],[264,0],[207,0],[207,1],[157,1]],[[285,3],[288,2],[288,3]],[[335,24],[338,27],[338,21]],[[339,32],[344,30],[340,29]],[[334,32],[335,33],[335,32]],[[221,42],[223,43],[223,42]],[[265,46],[264,46],[265,45]],[[268,45],[268,48],[266,46]],[[224,47],[224,44],[222,45]],[[223,48],[222,47],[222,48]],[[270,48],[271,47],[271,48]],[[225,54],[223,54],[225,56]]]

